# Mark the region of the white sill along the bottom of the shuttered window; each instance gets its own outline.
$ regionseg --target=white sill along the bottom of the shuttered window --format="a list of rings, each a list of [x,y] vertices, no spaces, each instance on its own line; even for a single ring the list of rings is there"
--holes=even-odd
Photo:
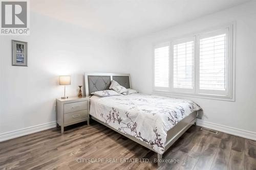
[[[152,93],[175,95],[175,96],[187,96],[187,97],[191,97],[191,98],[203,98],[203,99],[211,99],[211,100],[230,101],[230,102],[235,101],[234,98],[230,98],[229,96],[223,96],[223,95],[178,93],[178,92],[163,91],[163,90],[153,90]]]

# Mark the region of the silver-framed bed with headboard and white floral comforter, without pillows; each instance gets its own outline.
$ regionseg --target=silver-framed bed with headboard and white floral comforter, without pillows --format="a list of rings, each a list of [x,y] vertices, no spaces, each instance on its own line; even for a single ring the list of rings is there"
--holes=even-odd
[[[86,95],[107,90],[112,80],[131,88],[129,74],[85,73]],[[97,122],[156,152],[158,159],[193,124],[196,103],[134,93],[90,98],[90,116]]]

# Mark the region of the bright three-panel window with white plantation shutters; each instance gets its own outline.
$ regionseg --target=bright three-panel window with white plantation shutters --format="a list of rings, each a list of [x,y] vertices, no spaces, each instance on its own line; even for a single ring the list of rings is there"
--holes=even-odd
[[[154,48],[154,91],[233,100],[233,25]]]

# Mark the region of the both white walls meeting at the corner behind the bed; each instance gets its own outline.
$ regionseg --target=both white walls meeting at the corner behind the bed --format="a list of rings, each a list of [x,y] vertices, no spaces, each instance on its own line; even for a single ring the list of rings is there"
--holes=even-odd
[[[128,48],[112,37],[31,13],[30,36],[0,36],[0,141],[55,126],[55,98],[63,95],[58,75],[72,76],[69,96],[83,85],[84,71],[130,72],[133,88],[151,93],[153,43],[233,20],[237,21],[236,102],[188,99],[204,110],[200,125],[256,139],[255,9],[252,1],[132,40]],[[11,39],[29,43],[28,67],[11,66]]]

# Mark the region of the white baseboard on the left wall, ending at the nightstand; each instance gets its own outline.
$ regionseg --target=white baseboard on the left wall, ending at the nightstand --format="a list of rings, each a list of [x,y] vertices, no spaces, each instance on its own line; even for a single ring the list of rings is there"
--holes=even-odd
[[[25,136],[25,135],[35,133],[35,132],[44,131],[44,130],[55,128],[55,127],[56,127],[56,121],[46,123],[46,124],[36,125],[36,126],[24,128],[24,129],[19,129],[19,130],[15,130],[15,131],[11,131],[11,132],[1,133],[0,134],[0,142],[9,140],[9,139],[13,139],[16,137],[20,137],[20,136]]]

